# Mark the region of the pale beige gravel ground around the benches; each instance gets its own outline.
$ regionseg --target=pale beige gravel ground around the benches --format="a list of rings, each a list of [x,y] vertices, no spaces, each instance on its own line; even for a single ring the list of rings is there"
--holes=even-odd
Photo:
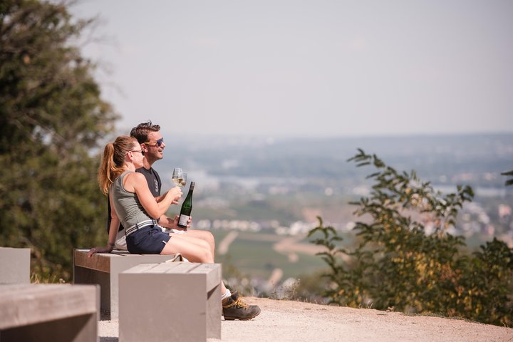
[[[222,339],[208,342],[513,342],[513,328],[459,319],[254,297],[246,301],[258,304],[261,314],[252,321],[222,321]],[[101,342],[118,341],[118,321],[100,321],[98,329]]]

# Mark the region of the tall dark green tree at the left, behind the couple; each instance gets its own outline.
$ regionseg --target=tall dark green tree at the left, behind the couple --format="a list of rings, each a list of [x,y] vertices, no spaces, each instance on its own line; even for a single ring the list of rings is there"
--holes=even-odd
[[[70,279],[74,247],[103,242],[98,140],[115,114],[76,42],[68,4],[0,3],[0,246],[31,247],[44,279]]]

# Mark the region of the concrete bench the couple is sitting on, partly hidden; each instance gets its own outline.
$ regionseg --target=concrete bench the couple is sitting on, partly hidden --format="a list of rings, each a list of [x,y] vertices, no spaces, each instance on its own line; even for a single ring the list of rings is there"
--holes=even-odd
[[[99,284],[100,308],[105,318],[118,319],[118,274],[141,263],[181,260],[180,254],[130,254],[128,251],[98,253],[88,258],[89,249],[73,251],[73,283]]]

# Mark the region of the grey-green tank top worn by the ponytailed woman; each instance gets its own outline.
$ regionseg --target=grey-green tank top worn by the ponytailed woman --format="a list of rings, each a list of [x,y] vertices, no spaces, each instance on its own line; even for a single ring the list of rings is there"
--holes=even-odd
[[[133,227],[142,221],[152,219],[139,202],[135,192],[128,192],[123,187],[123,178],[133,171],[125,171],[110,185],[110,196],[113,198],[114,208],[125,229]]]

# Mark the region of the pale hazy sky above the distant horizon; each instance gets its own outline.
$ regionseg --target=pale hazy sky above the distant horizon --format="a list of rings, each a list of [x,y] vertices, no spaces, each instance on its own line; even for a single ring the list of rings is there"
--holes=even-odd
[[[85,0],[118,128],[513,132],[513,1]]]

